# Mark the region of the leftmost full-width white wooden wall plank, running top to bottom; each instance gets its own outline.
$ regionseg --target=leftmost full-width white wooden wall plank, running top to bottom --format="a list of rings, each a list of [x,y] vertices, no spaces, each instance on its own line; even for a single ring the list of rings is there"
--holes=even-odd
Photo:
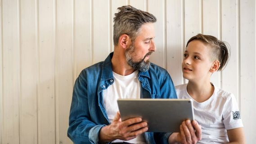
[[[20,46],[19,2],[3,0],[3,122],[2,143],[19,144]]]

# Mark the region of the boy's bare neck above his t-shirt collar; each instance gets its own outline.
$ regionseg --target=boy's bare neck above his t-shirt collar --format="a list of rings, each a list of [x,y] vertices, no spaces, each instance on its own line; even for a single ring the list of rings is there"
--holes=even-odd
[[[214,86],[211,85],[210,81],[205,83],[193,83],[189,81],[187,92],[189,93],[189,96],[197,102],[204,102],[212,96]]]

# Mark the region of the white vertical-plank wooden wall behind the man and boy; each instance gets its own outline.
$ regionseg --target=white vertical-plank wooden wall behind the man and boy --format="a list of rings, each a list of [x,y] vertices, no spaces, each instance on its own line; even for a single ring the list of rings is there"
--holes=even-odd
[[[229,64],[212,82],[235,94],[247,144],[255,144],[255,0],[0,0],[1,144],[72,144],[73,83],[113,51],[113,14],[126,4],[157,17],[151,61],[175,85],[185,83],[181,61],[190,37],[229,42]]]

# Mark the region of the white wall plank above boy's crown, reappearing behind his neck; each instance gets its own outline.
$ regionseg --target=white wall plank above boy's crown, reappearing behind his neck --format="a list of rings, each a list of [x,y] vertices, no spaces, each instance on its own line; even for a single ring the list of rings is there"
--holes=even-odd
[[[219,3],[218,0],[203,0],[202,2],[203,13],[203,34],[213,35],[219,37]],[[220,72],[215,72],[211,75],[211,82],[220,87]]]

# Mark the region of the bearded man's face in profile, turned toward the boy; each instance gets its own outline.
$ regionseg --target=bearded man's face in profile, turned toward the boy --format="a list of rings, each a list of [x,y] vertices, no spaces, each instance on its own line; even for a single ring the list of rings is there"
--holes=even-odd
[[[154,43],[155,31],[153,23],[146,23],[135,42],[126,49],[126,61],[134,70],[146,71],[149,68],[149,55],[156,51]]]

